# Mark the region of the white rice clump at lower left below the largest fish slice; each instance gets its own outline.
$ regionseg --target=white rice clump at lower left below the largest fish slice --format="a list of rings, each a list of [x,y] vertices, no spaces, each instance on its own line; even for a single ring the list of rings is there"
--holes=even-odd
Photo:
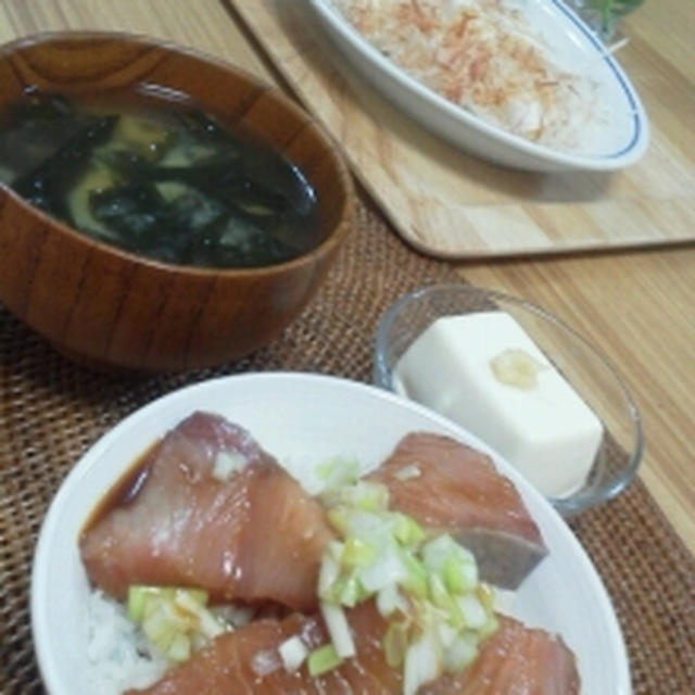
[[[147,687],[164,674],[166,661],[150,650],[122,604],[92,591],[87,616],[89,692],[121,695],[129,687]]]

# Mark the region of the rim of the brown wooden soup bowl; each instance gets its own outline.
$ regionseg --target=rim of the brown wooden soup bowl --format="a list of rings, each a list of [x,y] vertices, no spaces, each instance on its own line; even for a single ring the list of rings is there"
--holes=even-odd
[[[324,146],[326,153],[329,155],[331,163],[336,168],[339,187],[344,193],[342,210],[340,211],[337,223],[331,229],[331,232],[325,239],[323,239],[318,245],[312,248],[306,253],[302,253],[299,256],[273,265],[263,265],[255,267],[206,267],[186,264],[173,264],[154,258],[148,258],[147,256],[131,253],[129,251],[119,249],[118,247],[89,237],[88,235],[74,229],[67,223],[64,223],[61,219],[49,215],[42,210],[35,207],[24,198],[22,198],[22,195],[16,193],[8,184],[4,184],[2,181],[0,181],[0,199],[3,195],[10,198],[16,205],[23,208],[26,214],[36,215],[46,227],[50,227],[55,232],[67,237],[73,243],[85,245],[91,252],[104,253],[106,254],[106,256],[113,257],[119,262],[132,263],[139,267],[147,267],[155,271],[175,275],[185,275],[192,277],[222,276],[224,278],[237,276],[253,278],[254,276],[267,276],[268,274],[281,275],[287,271],[292,271],[293,269],[302,267],[306,264],[311,264],[318,257],[330,255],[342,243],[344,238],[352,229],[351,220],[354,216],[355,208],[355,187],[352,174],[350,173],[348,164],[345,163],[338,141],[326,130],[324,125],[316,117],[314,117],[299,103],[293,101],[280,89],[280,87],[273,85],[270,81],[264,80],[263,78],[251,73],[249,70],[241,67],[224,58],[218,58],[216,55],[213,55],[212,53],[207,53],[203,50],[193,48],[191,46],[186,46],[169,39],[162,39],[146,34],[130,31],[112,31],[101,29],[65,29],[37,31],[34,34],[29,34],[1,43],[0,61],[8,60],[12,56],[13,53],[26,48],[30,48],[33,46],[51,45],[64,41],[87,43],[94,40],[113,42],[130,41],[143,47],[160,49],[170,54],[178,54],[193,61],[214,65],[256,86],[260,90],[262,90],[266,94],[269,94],[273,99],[279,101],[283,108],[294,112],[302,119],[306,121],[305,128],[311,129]],[[302,131],[304,131],[305,128],[302,128]]]

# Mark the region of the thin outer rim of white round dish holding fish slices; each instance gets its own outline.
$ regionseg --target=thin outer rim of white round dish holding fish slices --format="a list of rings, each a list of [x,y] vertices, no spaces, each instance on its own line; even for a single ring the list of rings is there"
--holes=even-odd
[[[425,408],[424,406],[405,399],[401,399],[395,393],[379,389],[375,384],[355,381],[341,376],[317,374],[309,371],[251,371],[244,374],[226,375],[214,377],[201,382],[191,383],[181,388],[164,393],[152,401],[149,401],[138,407],[136,410],[126,414],[118,419],[113,426],[108,428],[100,437],[98,437],[76,459],[66,477],[61,481],[60,486],[53,493],[47,514],[41,522],[38,539],[35,545],[35,552],[31,559],[30,569],[30,629],[35,641],[35,654],[39,664],[41,678],[45,685],[54,685],[56,683],[56,674],[54,671],[55,659],[50,652],[47,650],[45,640],[47,636],[47,602],[42,601],[46,587],[53,582],[53,578],[47,573],[47,563],[51,555],[60,553],[60,549],[53,543],[55,540],[59,519],[64,514],[64,508],[70,502],[71,495],[74,495],[74,489],[78,488],[85,477],[100,465],[103,467],[103,457],[108,456],[109,450],[115,442],[131,434],[144,422],[148,427],[153,420],[160,419],[176,422],[176,416],[181,412],[181,404],[190,403],[191,396],[202,395],[204,403],[207,403],[207,394],[215,394],[228,388],[241,388],[253,384],[266,383],[285,383],[292,387],[293,393],[301,392],[302,388],[315,389],[316,391],[326,391],[334,389],[343,389],[356,397],[374,399],[382,403],[388,403],[396,408],[405,408],[405,410],[426,416],[428,421],[432,422],[435,429],[441,426],[453,437],[462,439],[471,445],[480,446],[481,451],[489,453],[495,466],[501,472],[509,477],[517,490],[525,498],[525,504],[529,507],[530,514],[539,523],[541,531],[551,536],[551,543],[561,543],[566,551],[570,552],[574,561],[581,566],[585,581],[590,584],[593,597],[593,604],[598,607],[602,614],[603,627],[607,629],[608,640],[610,642],[614,655],[618,657],[619,664],[616,666],[616,675],[619,681],[620,694],[630,695],[631,678],[629,671],[629,659],[626,650],[623,632],[618,620],[615,604],[606,590],[601,578],[598,569],[591,559],[586,549],[577,539],[571,528],[563,522],[557,510],[552,507],[547,498],[544,497],[535,488],[533,488],[516,469],[498,453],[493,452],[491,447],[479,440],[475,434],[470,433],[466,428],[447,420],[443,416]],[[184,408],[190,412],[188,406]],[[159,431],[163,428],[160,427]],[[156,437],[157,432],[152,435]],[[277,453],[277,452],[276,452]],[[101,464],[100,464],[101,462]],[[117,480],[118,473],[123,471],[123,466],[127,463],[121,463],[122,468],[116,471],[110,471],[109,476],[113,480]],[[553,601],[560,601],[557,596]],[[48,691],[59,695],[56,691]],[[62,693],[63,691],[61,691]]]

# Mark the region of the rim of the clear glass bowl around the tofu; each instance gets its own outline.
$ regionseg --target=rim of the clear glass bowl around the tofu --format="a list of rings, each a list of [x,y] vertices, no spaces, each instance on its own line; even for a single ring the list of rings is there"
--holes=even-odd
[[[377,325],[377,332],[374,345],[374,367],[372,367],[372,381],[378,387],[388,391],[393,391],[393,384],[391,381],[391,371],[386,364],[386,353],[388,346],[388,334],[393,326],[394,320],[401,313],[401,311],[413,302],[417,302],[432,294],[442,293],[456,293],[464,295],[478,295],[480,298],[490,299],[493,302],[506,302],[518,306],[525,311],[541,317],[542,319],[549,321],[555,327],[561,329],[572,337],[583,350],[592,354],[597,358],[609,374],[612,375],[615,383],[618,387],[621,395],[624,397],[629,420],[632,425],[632,452],[626,452],[629,455],[629,465],[626,470],[611,480],[610,484],[602,486],[597,490],[591,490],[587,492],[579,491],[568,497],[553,497],[548,496],[553,507],[557,509],[565,518],[572,517],[581,511],[585,511],[592,507],[596,507],[605,502],[618,496],[623,490],[630,485],[630,483],[636,477],[637,469],[644,458],[645,452],[645,434],[644,424],[640,407],[637,406],[632,392],[628,388],[624,378],[620,370],[616,367],[615,363],[606,355],[606,353],[597,345],[587,340],[577,329],[572,328],[567,321],[559,316],[553,314],[548,309],[542,307],[534,302],[508,294],[493,288],[485,288],[475,285],[465,283],[434,283],[427,285],[420,288],[416,288],[405,294],[402,294],[396,299],[382,314]]]

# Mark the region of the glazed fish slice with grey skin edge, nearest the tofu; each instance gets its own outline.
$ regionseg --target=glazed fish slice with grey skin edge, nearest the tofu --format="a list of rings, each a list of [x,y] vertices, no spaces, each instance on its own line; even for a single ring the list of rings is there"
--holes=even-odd
[[[483,581],[516,589],[547,553],[514,484],[489,456],[448,437],[406,435],[368,478],[389,488],[392,509],[470,549]]]

